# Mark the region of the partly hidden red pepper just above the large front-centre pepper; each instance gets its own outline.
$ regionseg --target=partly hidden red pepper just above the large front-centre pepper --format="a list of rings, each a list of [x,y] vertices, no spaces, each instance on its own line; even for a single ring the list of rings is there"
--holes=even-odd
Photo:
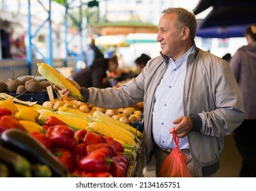
[[[87,155],[89,155],[90,153],[92,153],[94,151],[100,151],[110,158],[112,158],[113,156],[117,156],[115,147],[113,147],[113,145],[110,145],[109,143],[99,143],[97,145],[87,145],[87,147],[86,147]]]

